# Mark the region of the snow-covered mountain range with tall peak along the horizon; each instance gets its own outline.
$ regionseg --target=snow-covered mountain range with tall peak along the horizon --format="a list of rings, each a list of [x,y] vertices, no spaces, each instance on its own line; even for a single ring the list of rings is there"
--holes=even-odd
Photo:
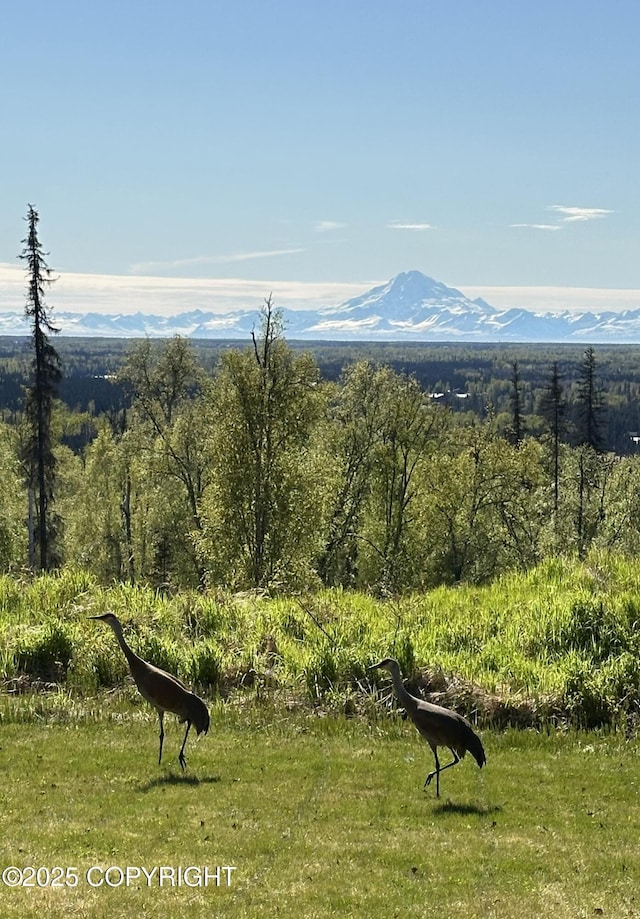
[[[277,306],[277,304],[276,304]],[[498,310],[470,300],[419,271],[406,271],[339,306],[282,310],[291,339],[333,341],[640,342],[640,309],[601,313]],[[62,335],[108,338],[246,338],[259,325],[257,310],[175,316],[53,311]],[[0,314],[0,335],[29,334],[22,313]]]

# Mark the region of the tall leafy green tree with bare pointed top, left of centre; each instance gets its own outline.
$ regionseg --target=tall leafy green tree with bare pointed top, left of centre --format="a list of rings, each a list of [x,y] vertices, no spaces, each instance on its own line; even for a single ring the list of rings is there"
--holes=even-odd
[[[322,515],[313,449],[318,371],[295,356],[268,301],[252,350],[228,351],[213,385],[211,488],[198,551],[209,583],[233,588],[308,582]]]

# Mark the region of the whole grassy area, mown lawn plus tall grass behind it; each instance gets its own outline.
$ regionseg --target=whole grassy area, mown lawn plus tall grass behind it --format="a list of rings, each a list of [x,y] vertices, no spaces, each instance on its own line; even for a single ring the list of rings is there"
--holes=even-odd
[[[385,599],[0,578],[0,914],[640,916],[639,581],[598,554]],[[105,609],[210,705],[184,773]],[[482,735],[440,799],[367,672],[389,653]]]

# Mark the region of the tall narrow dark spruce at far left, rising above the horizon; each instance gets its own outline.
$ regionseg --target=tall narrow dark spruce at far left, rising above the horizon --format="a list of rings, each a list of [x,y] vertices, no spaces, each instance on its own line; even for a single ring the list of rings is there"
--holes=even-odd
[[[25,315],[31,322],[33,380],[26,393],[27,437],[23,460],[29,489],[29,562],[34,570],[48,571],[58,559],[55,552],[53,514],[55,456],[51,436],[51,416],[61,378],[60,358],[49,341],[59,331],[49,318],[44,302],[45,290],[52,284],[52,270],[38,239],[38,212],[28,206],[28,233],[22,240],[18,258],[26,264],[27,303]],[[35,519],[34,519],[35,518]]]

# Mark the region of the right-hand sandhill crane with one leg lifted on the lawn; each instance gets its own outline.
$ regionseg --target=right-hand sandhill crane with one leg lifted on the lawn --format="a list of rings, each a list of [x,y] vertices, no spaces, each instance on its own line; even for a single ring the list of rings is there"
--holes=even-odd
[[[406,709],[418,731],[433,750],[436,768],[425,779],[425,788],[431,783],[431,779],[435,775],[436,797],[439,798],[440,773],[459,763],[467,750],[471,753],[478,766],[482,768],[487,761],[482,741],[466,718],[458,714],[458,712],[451,711],[449,708],[433,705],[431,702],[425,702],[423,699],[412,696],[405,689],[400,666],[393,657],[385,657],[384,660],[369,667],[369,670],[375,670],[377,667],[382,667],[384,670],[389,671],[398,702]],[[442,768],[440,768],[438,759],[438,747],[449,747],[453,753],[453,761]]]

